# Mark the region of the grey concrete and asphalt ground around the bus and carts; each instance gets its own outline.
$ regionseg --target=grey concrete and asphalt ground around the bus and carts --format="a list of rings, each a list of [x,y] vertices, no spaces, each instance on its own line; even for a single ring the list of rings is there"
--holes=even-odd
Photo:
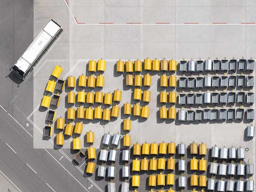
[[[113,92],[117,88],[124,91],[122,103],[119,104],[121,107],[126,101],[133,104],[134,101],[131,98],[133,89],[123,86],[124,76],[114,72],[118,59],[256,58],[254,52],[255,25],[243,24],[255,22],[256,4],[250,0],[225,2],[207,0],[189,3],[183,0],[162,1],[161,3],[144,0],[118,3],[112,0],[24,0],[22,2],[14,0],[2,1],[0,5],[2,18],[0,24],[4,26],[0,28],[0,73],[2,77],[0,81],[0,123],[3,127],[0,137],[0,148],[3,154],[0,158],[0,171],[6,179],[1,188],[2,191],[12,188],[23,192],[106,191],[108,178],[100,180],[95,177],[95,174],[87,178],[84,174],[86,163],[79,166],[72,163],[76,152],[70,149],[70,139],[65,139],[65,145],[61,149],[54,149],[50,141],[42,139],[40,130],[42,131],[44,127],[46,111],[37,111],[36,108],[41,102],[54,65],[61,64],[64,67],[64,75],[72,69],[71,75],[77,78],[81,73],[89,75],[86,70],[89,59],[105,59],[107,69],[104,73],[105,87],[102,91]],[[8,69],[12,67],[49,19],[54,19],[63,26],[64,32],[39,62],[34,73],[21,82]],[[124,25],[109,24],[112,22]],[[127,25],[127,23],[133,24]],[[161,24],[157,25],[157,23]],[[220,24],[214,25],[213,23]],[[226,25],[227,23],[230,25]],[[205,142],[208,148],[214,144],[219,147],[223,145],[226,147],[242,146],[249,148],[245,154],[245,161],[248,158],[254,159],[254,139],[248,140],[244,137],[244,130],[251,122],[187,124],[159,120],[157,112],[161,105],[158,102],[158,94],[162,89],[157,80],[160,74],[151,74],[153,75],[152,85],[155,84],[155,86],[151,86],[150,118],[142,122],[140,119],[131,117],[132,143],[144,141],[159,143],[164,140],[176,143],[183,141],[188,145],[195,140],[197,143]],[[61,94],[62,101],[67,91],[65,89]],[[189,92],[189,90],[185,91]],[[66,110],[65,103],[61,105],[57,108],[59,115]],[[177,108],[180,107],[177,106]],[[85,123],[84,131],[91,129],[95,132],[93,145],[95,148],[100,147],[104,132],[113,131],[112,133],[124,134],[120,123],[126,117],[122,115],[122,109],[120,114],[117,120],[110,121],[108,124]],[[53,135],[55,134],[56,132]],[[80,138],[82,139],[83,136],[84,132]],[[87,145],[82,144],[82,147],[86,148]],[[99,149],[97,153],[98,151]],[[119,155],[118,149],[118,157]],[[166,155],[166,158],[168,157]],[[134,158],[131,156],[131,159]],[[187,162],[189,158],[191,157],[185,157]],[[101,164],[96,160],[95,163],[97,163],[96,168]],[[118,173],[123,162],[118,159],[114,166],[117,166],[114,182],[119,188],[121,182],[124,181]],[[149,191],[147,177],[152,173],[139,174],[141,186],[138,190]],[[180,173],[175,171],[175,174],[177,177]],[[185,175],[187,174],[191,173],[186,172]],[[243,180],[246,178],[244,177]],[[189,181],[188,176],[187,179]],[[180,191],[177,186],[174,188]],[[130,191],[132,190],[134,188],[130,187]],[[192,188],[188,185],[184,191],[187,190],[191,191]]]

